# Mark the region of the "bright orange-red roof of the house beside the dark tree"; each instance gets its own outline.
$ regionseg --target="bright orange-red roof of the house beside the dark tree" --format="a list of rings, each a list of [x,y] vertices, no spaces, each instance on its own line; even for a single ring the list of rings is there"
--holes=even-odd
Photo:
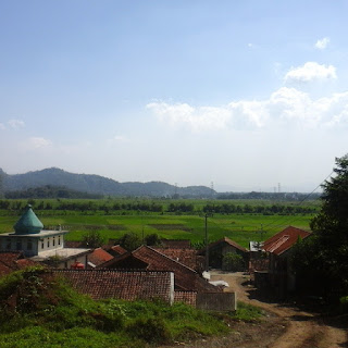
[[[290,249],[294,244],[297,243],[298,238],[303,239],[310,235],[310,232],[294,226],[288,226],[273,237],[265,240],[263,244],[263,250],[279,256],[286,250]]]

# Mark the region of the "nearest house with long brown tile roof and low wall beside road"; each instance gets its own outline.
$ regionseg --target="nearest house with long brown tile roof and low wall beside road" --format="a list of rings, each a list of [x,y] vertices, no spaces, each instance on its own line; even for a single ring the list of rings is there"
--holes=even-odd
[[[95,300],[116,298],[128,301],[161,299],[172,304],[186,302],[204,310],[236,310],[232,293],[198,293],[175,289],[175,275],[170,271],[148,270],[50,270],[46,276],[63,276],[80,294]]]

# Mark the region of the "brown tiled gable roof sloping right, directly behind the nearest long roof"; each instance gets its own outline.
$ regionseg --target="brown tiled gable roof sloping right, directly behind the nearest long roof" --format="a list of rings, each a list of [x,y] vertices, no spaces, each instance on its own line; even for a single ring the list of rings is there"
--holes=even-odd
[[[103,266],[128,269],[134,265],[141,266],[141,264],[148,271],[174,272],[175,289],[202,293],[216,291],[216,288],[201,278],[195,270],[147,246],[141,246],[133,252],[115,258],[104,263]]]

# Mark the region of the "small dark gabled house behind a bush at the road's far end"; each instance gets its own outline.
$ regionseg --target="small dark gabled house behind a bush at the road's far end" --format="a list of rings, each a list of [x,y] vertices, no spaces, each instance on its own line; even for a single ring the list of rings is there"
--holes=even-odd
[[[222,269],[224,256],[229,252],[240,254],[245,261],[247,261],[249,254],[249,251],[246,248],[227,237],[223,237],[208,246],[209,266]],[[199,253],[206,256],[206,248],[201,249]]]

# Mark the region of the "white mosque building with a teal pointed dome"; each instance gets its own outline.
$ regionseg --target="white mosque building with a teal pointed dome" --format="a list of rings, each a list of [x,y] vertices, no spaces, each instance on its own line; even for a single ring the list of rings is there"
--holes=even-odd
[[[64,236],[69,232],[44,229],[30,204],[13,227],[14,232],[0,234],[0,251],[21,251],[33,261],[59,268],[69,268],[75,261],[87,264],[90,249],[65,248]]]

